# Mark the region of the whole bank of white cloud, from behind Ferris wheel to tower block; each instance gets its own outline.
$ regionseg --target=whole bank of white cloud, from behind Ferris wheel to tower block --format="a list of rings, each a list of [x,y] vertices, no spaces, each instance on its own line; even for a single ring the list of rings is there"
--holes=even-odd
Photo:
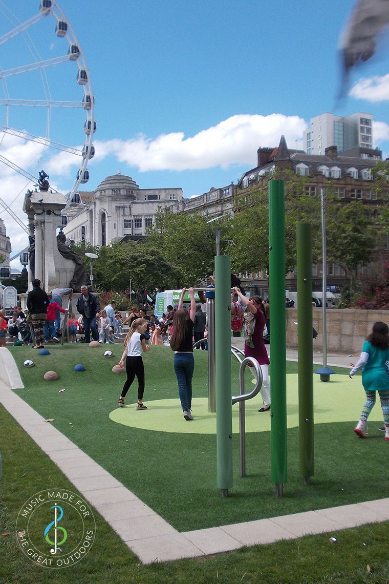
[[[96,154],[89,166],[93,173],[94,165],[108,157],[114,157],[119,163],[137,167],[139,172],[228,168],[233,165],[247,165],[249,168],[255,164],[258,147],[278,145],[282,134],[285,135],[289,147],[294,147],[295,141],[302,137],[306,125],[298,116],[278,113],[269,116],[237,114],[189,137],[185,137],[183,132],[177,132],[161,134],[155,138],[137,135],[128,140],[97,140],[94,142]],[[36,182],[38,170],[44,168],[50,175],[51,187],[62,189],[62,192],[68,192],[71,188],[80,164],[79,156],[58,151],[52,154],[50,148],[42,153],[42,146],[36,142],[10,135],[3,136],[0,154],[27,169],[31,175],[36,176]],[[33,182],[29,182],[9,166],[0,164],[0,197],[12,207],[24,224],[27,224],[27,217],[22,206],[27,188],[33,189]],[[28,243],[27,234],[1,205],[0,217],[5,222],[13,253],[23,249]]]

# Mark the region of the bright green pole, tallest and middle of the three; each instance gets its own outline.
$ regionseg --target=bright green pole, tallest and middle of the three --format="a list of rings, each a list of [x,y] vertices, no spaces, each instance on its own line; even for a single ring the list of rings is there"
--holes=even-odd
[[[285,312],[285,183],[269,182],[269,297],[272,311],[270,335],[271,474],[276,495],[282,496],[287,480],[286,453],[286,312]]]

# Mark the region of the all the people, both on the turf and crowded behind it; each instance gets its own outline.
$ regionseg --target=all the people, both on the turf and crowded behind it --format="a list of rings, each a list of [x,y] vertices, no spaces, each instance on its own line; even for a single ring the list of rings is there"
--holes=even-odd
[[[246,297],[239,285],[231,288],[231,329],[233,336],[244,336],[244,355],[258,361],[262,371],[261,397],[263,406],[259,412],[271,409],[271,387],[269,381],[269,357],[265,344],[270,335],[269,299],[262,301],[259,296]],[[0,346],[5,346],[6,334],[20,343],[31,344],[31,328],[35,339],[34,349],[44,347],[44,342],[59,341],[61,313],[65,314],[62,302],[65,296],[72,297],[71,288],[55,288],[46,293],[40,286],[40,280],[33,280],[32,290],[27,294],[27,310],[14,307],[12,315],[6,319],[5,311],[0,310]],[[78,333],[83,340],[90,339],[100,343],[114,343],[124,335],[124,326],[129,331],[124,339],[124,352],[119,362],[127,372],[118,405],[124,406],[124,398],[135,380],[138,380],[137,409],[148,409],[143,404],[145,392],[145,370],[142,353],[150,350],[150,345],[168,345],[174,351],[173,367],[176,373],[178,395],[184,419],[191,421],[192,415],[192,377],[194,374],[194,346],[207,348],[207,318],[201,304],[195,303],[194,288],[189,288],[189,307],[184,307],[187,288],[181,291],[180,300],[174,306],[168,305],[166,313],[158,319],[155,314],[148,315],[144,308],[132,307],[128,317],[122,319],[120,311],[115,308],[115,301],[100,307],[96,294],[86,286],[81,287],[77,301],[78,319],[70,313],[67,319],[69,343],[77,342]],[[286,307],[288,307],[286,298]],[[153,307],[152,307],[153,308]],[[389,327],[384,322],[376,322],[372,333],[362,347],[358,363],[352,364],[350,377],[360,369],[363,370],[362,384],[366,392],[355,433],[366,437],[366,423],[369,413],[376,402],[378,392],[383,410],[386,440],[389,440]]]

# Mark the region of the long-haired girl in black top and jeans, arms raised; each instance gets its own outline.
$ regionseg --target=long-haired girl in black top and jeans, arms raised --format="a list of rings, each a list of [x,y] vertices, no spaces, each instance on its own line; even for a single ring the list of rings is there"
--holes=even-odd
[[[187,288],[181,290],[180,302],[174,312],[173,333],[170,346],[174,350],[174,371],[178,383],[181,407],[184,418],[188,422],[193,419],[192,408],[192,377],[194,372],[193,357],[193,321],[196,314],[194,288],[189,288],[191,305],[189,311],[184,308],[184,295]]]

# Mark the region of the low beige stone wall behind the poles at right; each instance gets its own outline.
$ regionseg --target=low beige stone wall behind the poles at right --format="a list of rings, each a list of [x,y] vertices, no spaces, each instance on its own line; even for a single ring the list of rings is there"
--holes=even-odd
[[[328,308],[327,350],[334,353],[359,353],[374,322],[389,324],[389,311]],[[286,309],[286,345],[297,349],[297,308]],[[313,309],[313,326],[318,336],[313,341],[314,350],[323,349],[323,311]]]

